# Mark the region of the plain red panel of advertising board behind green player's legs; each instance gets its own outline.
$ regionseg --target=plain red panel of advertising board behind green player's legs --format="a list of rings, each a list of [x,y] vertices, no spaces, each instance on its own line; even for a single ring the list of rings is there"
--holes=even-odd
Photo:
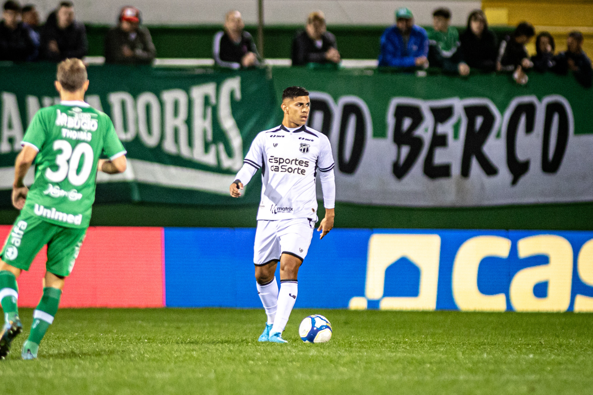
[[[0,226],[0,237],[11,226]],[[90,227],[60,307],[163,307],[160,227]],[[46,248],[18,279],[18,305],[36,307],[42,296]]]

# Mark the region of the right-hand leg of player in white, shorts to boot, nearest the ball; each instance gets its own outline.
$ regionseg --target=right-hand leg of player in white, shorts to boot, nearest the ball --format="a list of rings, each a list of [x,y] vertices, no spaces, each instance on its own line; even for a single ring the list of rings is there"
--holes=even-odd
[[[306,218],[283,222],[282,229],[278,232],[282,249],[278,311],[274,325],[270,330],[270,341],[279,343],[286,342],[282,339],[282,332],[297,301],[298,269],[307,256],[315,226],[313,221]]]

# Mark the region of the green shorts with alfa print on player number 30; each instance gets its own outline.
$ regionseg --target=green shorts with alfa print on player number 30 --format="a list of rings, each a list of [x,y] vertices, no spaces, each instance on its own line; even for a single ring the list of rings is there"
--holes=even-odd
[[[47,244],[48,272],[67,276],[72,272],[87,228],[50,224],[37,216],[21,213],[2,248],[0,258],[15,268],[28,270],[37,253]]]

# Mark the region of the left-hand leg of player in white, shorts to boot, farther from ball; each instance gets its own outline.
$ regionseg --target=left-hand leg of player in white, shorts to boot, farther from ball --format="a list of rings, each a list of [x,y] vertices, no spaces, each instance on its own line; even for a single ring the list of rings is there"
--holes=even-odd
[[[276,265],[280,257],[280,243],[276,236],[277,221],[257,221],[256,240],[253,248],[257,294],[266,311],[267,322],[258,341],[267,342],[276,316],[278,284]]]

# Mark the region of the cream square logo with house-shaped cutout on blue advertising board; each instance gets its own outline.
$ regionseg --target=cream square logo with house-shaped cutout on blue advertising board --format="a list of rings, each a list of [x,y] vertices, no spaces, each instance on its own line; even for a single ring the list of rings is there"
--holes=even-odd
[[[366,298],[380,299],[381,310],[435,310],[440,253],[439,235],[372,235],[366,266]],[[400,258],[409,259],[420,269],[417,297],[383,297],[385,270]]]

